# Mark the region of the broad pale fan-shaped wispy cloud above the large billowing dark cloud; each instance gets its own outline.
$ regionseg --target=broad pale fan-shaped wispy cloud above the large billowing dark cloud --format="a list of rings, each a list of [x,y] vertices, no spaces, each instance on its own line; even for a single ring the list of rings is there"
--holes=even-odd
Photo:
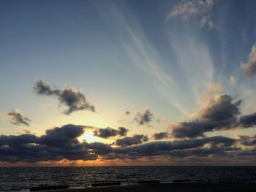
[[[186,99],[182,101],[186,103],[184,108],[187,109],[213,84],[214,61],[211,58],[209,47],[189,32],[184,31],[184,34],[178,34],[177,31],[170,29],[170,34],[170,46],[176,55],[176,65],[180,70],[178,72],[181,78],[179,86],[183,90],[186,89],[186,91],[178,91],[176,100],[179,96],[185,96],[187,102]]]

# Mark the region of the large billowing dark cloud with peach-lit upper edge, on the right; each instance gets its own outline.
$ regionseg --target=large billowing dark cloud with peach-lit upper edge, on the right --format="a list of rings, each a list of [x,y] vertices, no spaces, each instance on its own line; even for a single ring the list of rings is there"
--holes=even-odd
[[[172,136],[204,137],[206,132],[214,130],[226,130],[237,126],[239,106],[241,100],[233,101],[229,95],[222,95],[216,101],[211,102],[198,112],[195,120],[171,124]]]

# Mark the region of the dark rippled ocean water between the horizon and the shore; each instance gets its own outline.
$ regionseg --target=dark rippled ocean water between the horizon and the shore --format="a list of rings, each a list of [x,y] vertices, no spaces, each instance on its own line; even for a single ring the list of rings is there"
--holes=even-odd
[[[138,180],[210,179],[256,182],[256,166],[112,166],[0,168],[0,191],[39,185],[83,187],[90,183]]]

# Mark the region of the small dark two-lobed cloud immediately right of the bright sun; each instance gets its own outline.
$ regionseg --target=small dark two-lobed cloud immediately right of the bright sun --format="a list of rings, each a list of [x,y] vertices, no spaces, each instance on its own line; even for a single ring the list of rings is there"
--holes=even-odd
[[[108,137],[126,136],[128,131],[129,130],[124,127],[118,127],[117,130],[110,127],[97,128],[97,130],[94,131],[94,136],[107,139]]]

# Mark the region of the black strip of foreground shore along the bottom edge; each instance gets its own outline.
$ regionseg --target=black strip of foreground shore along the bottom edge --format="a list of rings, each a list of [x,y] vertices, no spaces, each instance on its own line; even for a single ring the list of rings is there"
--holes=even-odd
[[[55,190],[56,191],[56,190]],[[58,192],[247,192],[256,191],[256,185],[236,185],[227,183],[152,183],[140,185],[119,185],[94,188],[74,188],[57,190]]]

